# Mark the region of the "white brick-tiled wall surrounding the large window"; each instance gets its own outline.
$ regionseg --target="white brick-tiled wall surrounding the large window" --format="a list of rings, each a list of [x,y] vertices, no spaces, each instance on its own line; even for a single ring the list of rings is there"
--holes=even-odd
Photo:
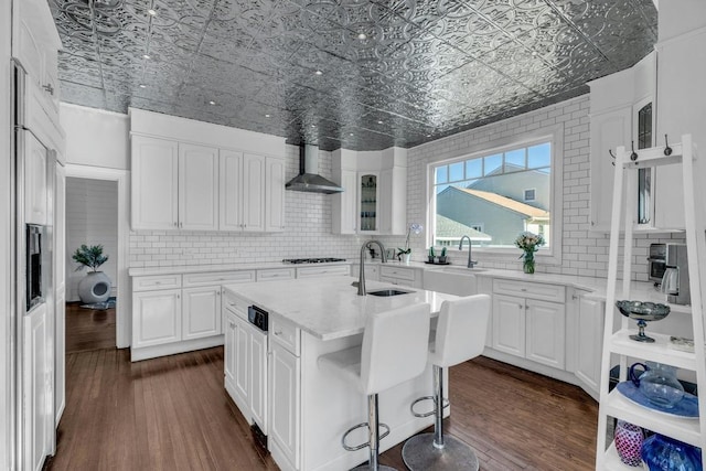
[[[563,227],[563,260],[561,265],[546,265],[537,259],[538,272],[561,275],[580,275],[587,277],[606,278],[608,275],[608,235],[590,232],[590,120],[589,97],[584,95],[567,101],[561,101],[546,108],[537,109],[514,118],[494,122],[481,128],[460,132],[448,138],[439,139],[409,149],[408,159],[408,221],[426,221],[426,185],[427,164],[463,156],[471,147],[482,146],[500,139],[511,139],[513,136],[528,131],[560,125],[564,128],[564,218]],[[490,143],[489,143],[490,146]],[[553,215],[556,217],[557,215]],[[650,244],[655,242],[683,240],[683,236],[638,235],[633,248],[633,275],[638,280],[646,281],[646,257]],[[425,242],[417,237],[411,239],[413,253],[425,251]],[[448,251],[453,264],[463,264],[466,253],[454,249]],[[520,253],[518,253],[520,255]],[[486,268],[522,269],[522,260],[473,256]]]

